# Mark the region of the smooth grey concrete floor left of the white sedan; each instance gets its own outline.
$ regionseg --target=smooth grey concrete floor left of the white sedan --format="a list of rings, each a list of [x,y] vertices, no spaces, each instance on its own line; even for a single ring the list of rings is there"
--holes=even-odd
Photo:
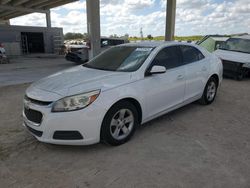
[[[14,58],[9,64],[1,64],[0,87],[34,82],[73,66],[76,64],[62,56]]]

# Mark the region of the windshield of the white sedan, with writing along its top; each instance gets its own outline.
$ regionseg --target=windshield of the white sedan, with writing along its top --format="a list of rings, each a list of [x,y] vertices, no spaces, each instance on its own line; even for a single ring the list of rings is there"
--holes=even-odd
[[[117,46],[101,53],[83,66],[107,71],[133,72],[138,70],[153,48]]]

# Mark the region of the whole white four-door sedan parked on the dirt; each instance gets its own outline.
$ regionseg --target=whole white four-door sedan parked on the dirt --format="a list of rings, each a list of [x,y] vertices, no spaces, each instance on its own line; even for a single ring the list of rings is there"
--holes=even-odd
[[[221,60],[199,46],[124,44],[33,83],[24,126],[46,143],[120,145],[140,124],[196,100],[211,104],[221,81]]]

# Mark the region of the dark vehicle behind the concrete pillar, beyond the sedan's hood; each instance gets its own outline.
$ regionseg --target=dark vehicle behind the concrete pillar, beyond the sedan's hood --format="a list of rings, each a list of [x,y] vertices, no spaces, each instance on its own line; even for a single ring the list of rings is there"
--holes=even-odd
[[[127,43],[128,41],[120,38],[101,38],[101,51],[104,51],[111,46]],[[88,50],[91,48],[86,45],[69,45],[68,52],[65,55],[66,60],[73,61],[77,64],[85,63],[89,60]]]

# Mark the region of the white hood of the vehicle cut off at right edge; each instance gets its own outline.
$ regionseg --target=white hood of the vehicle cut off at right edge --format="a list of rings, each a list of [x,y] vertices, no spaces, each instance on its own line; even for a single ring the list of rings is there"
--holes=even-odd
[[[216,50],[215,55],[223,60],[234,61],[238,63],[250,64],[250,54],[242,52],[234,52],[228,50]]]

